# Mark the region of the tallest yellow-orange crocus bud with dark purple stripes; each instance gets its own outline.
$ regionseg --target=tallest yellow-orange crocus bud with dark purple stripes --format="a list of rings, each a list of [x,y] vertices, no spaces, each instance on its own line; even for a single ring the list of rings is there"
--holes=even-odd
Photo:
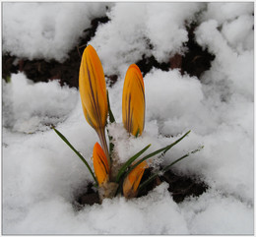
[[[96,130],[104,128],[107,117],[105,78],[96,50],[91,45],[82,56],[79,89],[87,121]]]

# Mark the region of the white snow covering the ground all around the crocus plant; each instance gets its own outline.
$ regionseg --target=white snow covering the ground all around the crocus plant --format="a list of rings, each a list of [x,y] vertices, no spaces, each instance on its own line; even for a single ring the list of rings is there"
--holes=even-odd
[[[166,183],[148,196],[73,208],[93,179],[76,154],[49,128],[62,132],[93,167],[98,139],[86,122],[78,89],[37,83],[23,73],[3,82],[4,234],[253,234],[253,3],[4,3],[3,50],[18,57],[65,60],[90,21],[107,15],[91,44],[105,74],[117,124],[108,127],[125,161],[191,133],[163,158],[170,163],[204,148],[173,169],[204,181],[200,197],[176,204]],[[125,72],[143,55],[166,62],[186,51],[185,23],[198,21],[196,41],[215,55],[200,80],[153,68],[145,77],[145,132],[122,127]],[[149,46],[153,45],[153,49]]]

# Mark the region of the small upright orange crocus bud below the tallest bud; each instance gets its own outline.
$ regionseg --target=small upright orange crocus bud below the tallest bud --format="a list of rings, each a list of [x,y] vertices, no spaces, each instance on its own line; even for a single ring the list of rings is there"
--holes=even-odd
[[[95,145],[93,157],[96,179],[100,186],[108,178],[109,168],[105,153],[98,143]]]

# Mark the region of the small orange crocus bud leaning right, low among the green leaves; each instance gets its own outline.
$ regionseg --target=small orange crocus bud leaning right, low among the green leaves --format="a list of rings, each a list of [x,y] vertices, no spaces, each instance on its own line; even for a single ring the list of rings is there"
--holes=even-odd
[[[142,176],[148,164],[145,161],[136,166],[125,178],[123,182],[123,195],[125,198],[134,198],[137,196],[137,190]]]

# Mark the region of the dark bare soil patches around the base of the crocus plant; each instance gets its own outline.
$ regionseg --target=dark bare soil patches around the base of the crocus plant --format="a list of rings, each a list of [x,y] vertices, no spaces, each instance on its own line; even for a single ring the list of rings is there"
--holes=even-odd
[[[151,173],[152,170],[146,169],[141,183],[149,178]],[[178,175],[169,170],[162,176],[157,177],[155,181],[142,190],[137,197],[140,198],[148,195],[148,193],[156,186],[160,185],[161,182],[169,184],[168,191],[170,192],[173,201],[177,204],[183,202],[184,199],[188,197],[199,197],[208,189],[208,186],[204,182],[198,181],[196,178]],[[93,189],[93,185],[89,184],[86,190],[86,193],[80,193],[75,198],[76,201],[74,207],[78,210],[85,205],[92,206],[94,204],[99,204],[99,198],[96,191]]]

